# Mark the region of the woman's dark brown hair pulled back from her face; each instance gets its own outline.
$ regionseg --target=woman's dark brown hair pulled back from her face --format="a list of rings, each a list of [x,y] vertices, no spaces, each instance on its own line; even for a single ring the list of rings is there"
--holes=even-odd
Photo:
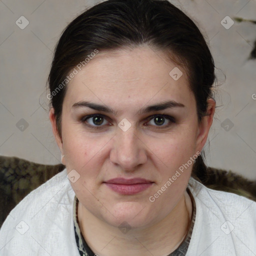
[[[167,0],[107,0],[85,10],[63,30],[55,47],[48,83],[50,103],[61,136],[61,112],[66,86],[56,92],[78,63],[97,49],[148,45],[166,51],[187,72],[196,100],[198,122],[206,114],[215,80],[214,61],[195,23]],[[59,87],[58,87],[59,88]],[[56,93],[53,93],[53,92]],[[206,166],[198,156],[192,176],[205,175]]]

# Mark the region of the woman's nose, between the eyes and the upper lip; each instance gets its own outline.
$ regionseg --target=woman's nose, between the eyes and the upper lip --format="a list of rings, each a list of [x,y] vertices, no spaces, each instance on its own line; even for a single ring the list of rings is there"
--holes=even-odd
[[[146,162],[146,145],[143,143],[134,125],[123,131],[117,127],[110,151],[110,161],[125,171],[133,171]]]

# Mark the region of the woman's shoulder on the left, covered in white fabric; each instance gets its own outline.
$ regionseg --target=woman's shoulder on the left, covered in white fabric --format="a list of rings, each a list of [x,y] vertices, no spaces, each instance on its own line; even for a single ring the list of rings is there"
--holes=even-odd
[[[74,254],[74,195],[64,169],[25,196],[0,229],[4,255]],[[63,245],[56,247],[60,240]]]

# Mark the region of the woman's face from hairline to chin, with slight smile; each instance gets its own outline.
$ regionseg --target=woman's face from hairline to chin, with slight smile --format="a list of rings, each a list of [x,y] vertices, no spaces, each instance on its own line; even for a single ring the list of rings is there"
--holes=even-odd
[[[211,125],[212,114],[198,125],[185,71],[165,56],[146,46],[99,52],[67,85],[62,142],[50,112],[77,198],[114,226],[147,226],[170,213]]]

